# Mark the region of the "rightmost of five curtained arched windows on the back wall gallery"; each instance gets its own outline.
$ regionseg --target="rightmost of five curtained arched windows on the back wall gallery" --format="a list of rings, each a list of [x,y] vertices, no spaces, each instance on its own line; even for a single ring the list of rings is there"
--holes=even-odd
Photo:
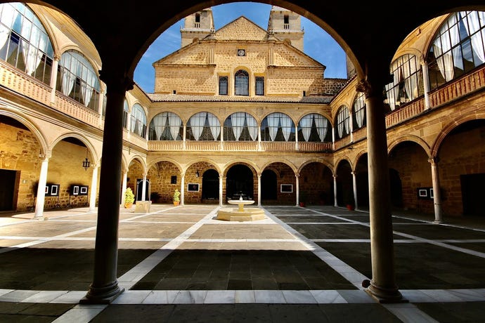
[[[307,142],[331,142],[332,133],[328,131],[330,122],[318,113],[306,114],[298,123],[298,140]]]

